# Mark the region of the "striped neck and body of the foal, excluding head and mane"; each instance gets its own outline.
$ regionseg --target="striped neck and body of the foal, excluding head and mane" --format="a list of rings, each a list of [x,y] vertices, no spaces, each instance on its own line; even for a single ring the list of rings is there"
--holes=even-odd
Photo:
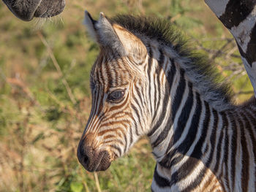
[[[189,80],[182,64],[158,51],[149,61],[161,61],[154,55],[166,57],[162,60],[169,67],[165,82],[159,85],[167,92],[159,96],[157,108],[152,107],[158,118],[148,133],[157,160],[152,191],[206,191],[212,179],[209,175],[217,178],[211,190],[217,186],[216,191],[254,191],[256,101],[216,109],[197,91],[200,85]],[[154,73],[151,70],[148,75]],[[170,99],[164,102],[166,95]],[[201,183],[205,185],[199,188]]]

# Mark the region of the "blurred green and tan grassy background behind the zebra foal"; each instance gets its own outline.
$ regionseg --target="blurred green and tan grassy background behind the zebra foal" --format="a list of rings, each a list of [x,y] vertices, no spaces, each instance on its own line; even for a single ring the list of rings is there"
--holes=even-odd
[[[150,191],[155,162],[146,137],[106,172],[78,163],[99,51],[82,25],[84,9],[94,18],[104,12],[170,20],[217,64],[237,103],[252,96],[236,42],[202,0],[72,0],[61,16],[30,23],[0,1],[0,191]]]

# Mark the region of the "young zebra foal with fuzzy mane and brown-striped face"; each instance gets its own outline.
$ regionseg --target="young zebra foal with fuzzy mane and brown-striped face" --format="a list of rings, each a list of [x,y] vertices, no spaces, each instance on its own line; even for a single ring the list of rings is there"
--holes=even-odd
[[[100,52],[78,146],[90,172],[147,135],[152,191],[255,191],[256,100],[233,104],[217,72],[166,20],[119,15],[85,23]]]

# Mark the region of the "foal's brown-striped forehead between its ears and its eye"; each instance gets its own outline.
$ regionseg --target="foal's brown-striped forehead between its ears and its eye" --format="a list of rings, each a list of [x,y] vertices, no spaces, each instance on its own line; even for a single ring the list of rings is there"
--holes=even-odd
[[[129,58],[101,50],[91,69],[91,82],[105,88],[128,85],[135,78]]]

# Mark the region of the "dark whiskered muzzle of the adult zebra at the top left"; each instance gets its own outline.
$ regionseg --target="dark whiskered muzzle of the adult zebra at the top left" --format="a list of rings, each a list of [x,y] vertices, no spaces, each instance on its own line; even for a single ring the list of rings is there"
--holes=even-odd
[[[50,18],[59,15],[65,7],[65,0],[3,0],[11,12],[21,20]]]

